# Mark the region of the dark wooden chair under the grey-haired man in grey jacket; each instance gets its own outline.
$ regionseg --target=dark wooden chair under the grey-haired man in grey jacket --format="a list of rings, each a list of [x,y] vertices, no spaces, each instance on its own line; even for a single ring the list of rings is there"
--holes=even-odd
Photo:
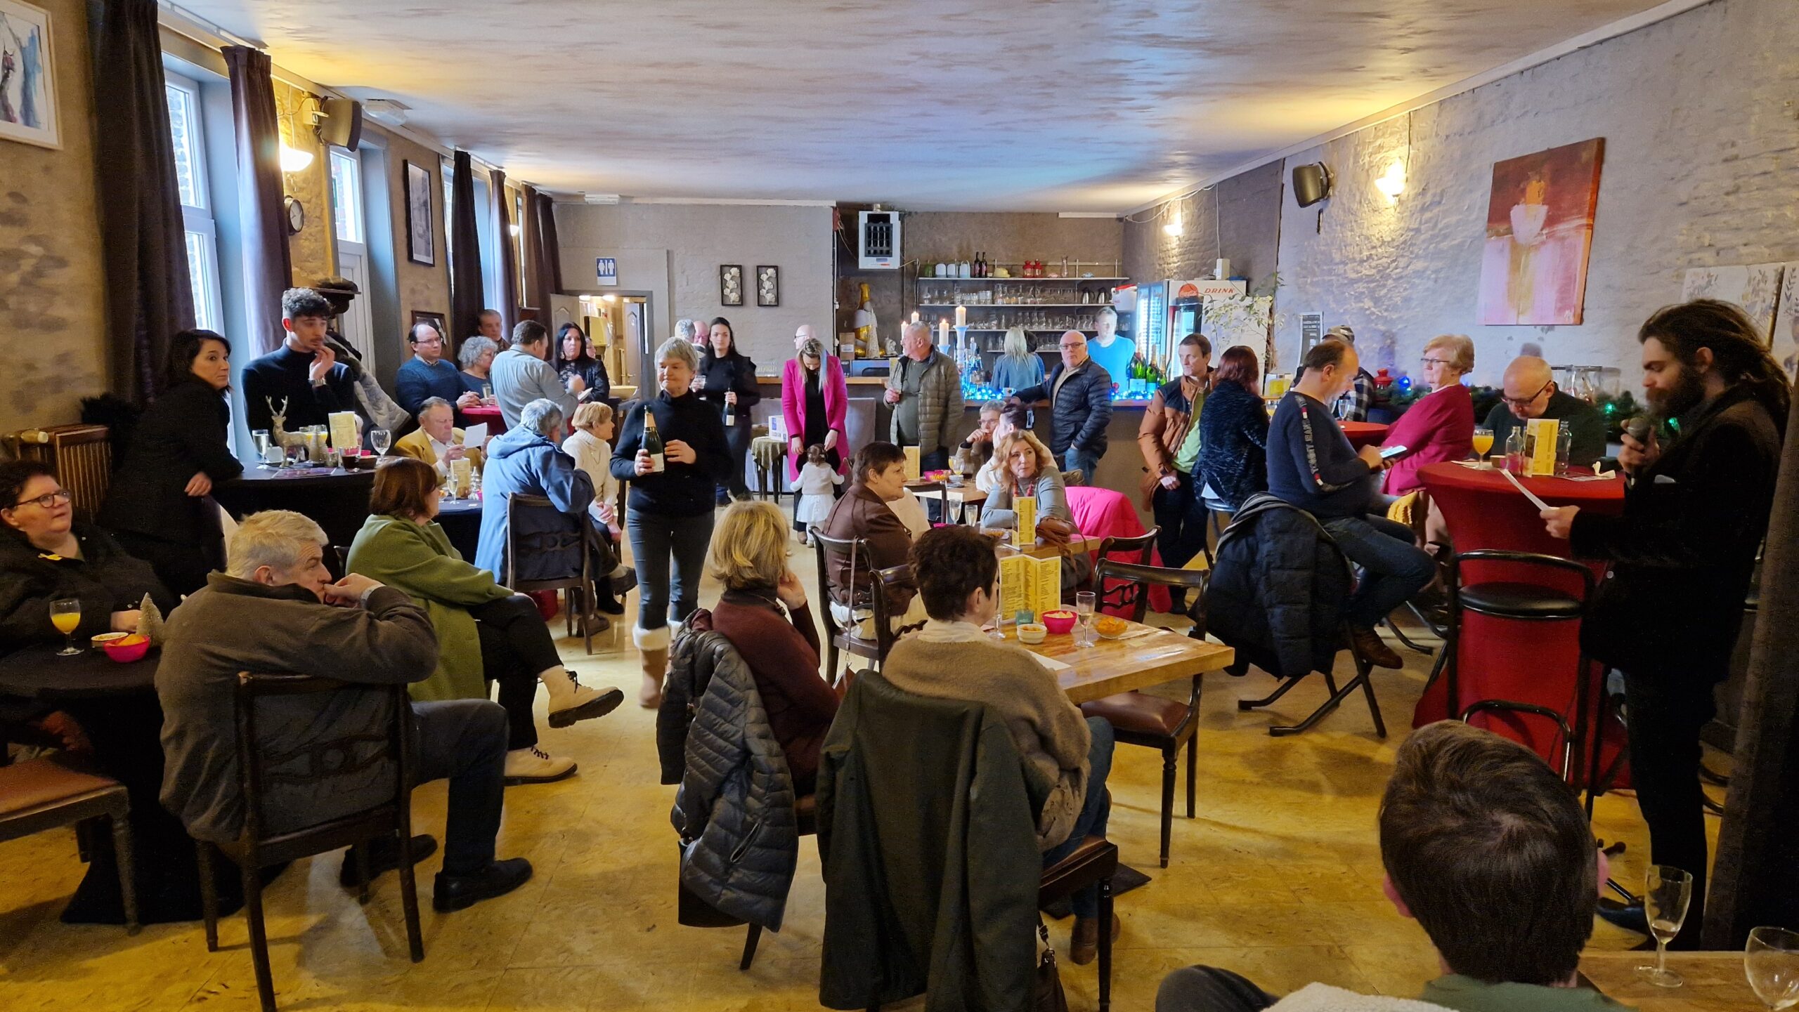
[[[275,696],[306,696],[315,692],[380,692],[392,706],[392,717],[385,733],[378,739],[381,751],[371,760],[387,760],[394,768],[394,793],[376,807],[344,814],[318,825],[300,829],[268,830],[268,812],[264,796],[272,784],[315,784],[333,777],[333,771],[320,773],[311,766],[324,762],[327,755],[340,759],[351,750],[363,750],[371,742],[367,735],[345,735],[335,741],[309,742],[308,769],[290,773],[270,769],[272,764],[288,764],[293,755],[268,755],[263,739],[257,735],[255,703]],[[255,963],[255,992],[263,999],[263,1012],[275,1012],[275,983],[268,967],[268,931],[263,926],[263,877],[261,870],[270,865],[282,865],[315,854],[326,854],[340,847],[353,847],[356,870],[360,874],[360,901],[369,902],[369,854],[365,845],[380,836],[399,838],[399,899],[407,919],[407,945],[412,962],[425,958],[425,938],[419,933],[419,893],[412,877],[412,705],[405,685],[347,685],[327,678],[306,674],[250,674],[237,676],[232,694],[232,708],[237,730],[237,789],[243,795],[243,832],[230,843],[198,841],[200,856],[200,902],[205,911],[207,951],[216,953],[218,937],[218,893],[212,879],[212,852],[219,850],[237,863],[243,872],[243,906],[250,920],[250,960]]]

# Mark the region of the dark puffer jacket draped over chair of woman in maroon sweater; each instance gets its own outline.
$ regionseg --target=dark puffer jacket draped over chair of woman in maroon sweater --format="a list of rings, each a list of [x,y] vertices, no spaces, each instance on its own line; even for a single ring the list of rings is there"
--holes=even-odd
[[[702,609],[675,635],[657,712],[664,784],[680,757],[669,816],[680,881],[720,913],[779,931],[799,863],[793,777],[750,665],[711,627]]]

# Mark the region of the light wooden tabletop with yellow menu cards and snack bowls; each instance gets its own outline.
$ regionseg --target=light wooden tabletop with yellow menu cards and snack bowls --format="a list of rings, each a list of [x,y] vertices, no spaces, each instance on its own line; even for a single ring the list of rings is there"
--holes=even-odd
[[[1236,660],[1236,651],[1207,640],[1195,640],[1160,626],[1123,620],[1121,638],[1099,638],[1092,647],[1074,645],[1074,633],[1051,633],[1042,644],[1020,644],[1033,654],[1067,665],[1056,669],[1056,681],[1076,705],[1150,688],[1178,678],[1220,670]],[[1006,640],[1018,642],[1018,631],[1006,627]]]

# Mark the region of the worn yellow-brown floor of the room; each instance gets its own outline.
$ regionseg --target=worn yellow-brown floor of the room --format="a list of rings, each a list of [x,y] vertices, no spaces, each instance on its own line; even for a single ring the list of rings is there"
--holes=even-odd
[[[815,586],[810,552],[795,552],[793,563]],[[714,597],[711,588],[705,600]],[[563,656],[583,681],[635,694],[628,629],[601,636],[592,658],[579,640],[565,640]],[[1265,694],[1272,679],[1209,674],[1198,818],[1175,820],[1166,870],[1155,866],[1160,757],[1119,746],[1110,836],[1151,883],[1117,904],[1115,1008],[1151,1008],[1162,974],[1189,963],[1223,965],[1275,992],[1322,980],[1410,996],[1436,976],[1423,931],[1382,897],[1374,836],[1380,791],[1427,669],[1428,658],[1407,652],[1405,670],[1374,676],[1387,741],[1373,735],[1360,699],[1319,730],[1270,739],[1265,728],[1308,714],[1322,685],[1295,688],[1274,714],[1240,714],[1234,701]],[[754,969],[738,972],[741,928],[675,924],[673,787],[657,784],[653,715],[626,703],[606,719],[545,732],[543,744],[577,757],[581,773],[507,789],[500,854],[531,857],[536,877],[513,895],[437,915],[428,904],[437,859],[423,863],[423,963],[407,960],[394,875],[376,884],[369,906],[338,888],[335,856],[300,861],[268,890],[282,1008],[817,1008],[824,886],[811,839],[801,845],[786,928],[765,935]],[[421,832],[441,834],[443,803],[443,784],[417,791]],[[1603,798],[1596,829],[1628,841],[1614,872],[1639,883],[1648,839],[1635,803]],[[135,938],[119,928],[68,928],[56,915],[79,875],[70,832],[0,845],[0,1008],[255,1008],[243,917],[221,926],[223,949],[210,954],[198,924],[153,926]],[[1051,926],[1058,945],[1067,926]],[[1592,945],[1633,942],[1599,924]],[[1096,1005],[1096,967],[1063,965],[1063,980],[1076,1008]]]

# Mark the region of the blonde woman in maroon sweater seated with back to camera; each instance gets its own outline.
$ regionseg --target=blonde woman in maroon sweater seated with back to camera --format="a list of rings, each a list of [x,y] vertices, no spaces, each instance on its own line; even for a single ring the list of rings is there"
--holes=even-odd
[[[750,665],[793,791],[810,795],[838,699],[819,678],[819,633],[806,588],[788,568],[786,528],[786,514],[770,502],[732,503],[712,530],[705,570],[725,584],[712,608],[712,631]]]

